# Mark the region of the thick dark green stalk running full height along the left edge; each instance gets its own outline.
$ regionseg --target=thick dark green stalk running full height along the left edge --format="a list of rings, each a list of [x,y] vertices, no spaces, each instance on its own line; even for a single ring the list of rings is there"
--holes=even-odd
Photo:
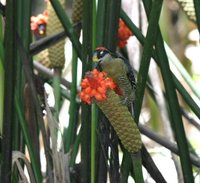
[[[15,1],[6,4],[5,28],[5,85],[2,134],[1,182],[11,182],[12,125],[14,119],[14,86],[15,86]]]

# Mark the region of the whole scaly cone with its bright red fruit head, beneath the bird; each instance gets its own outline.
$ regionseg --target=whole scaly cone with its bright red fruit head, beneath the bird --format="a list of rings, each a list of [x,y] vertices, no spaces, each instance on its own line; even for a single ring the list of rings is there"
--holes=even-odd
[[[121,102],[118,87],[106,73],[94,69],[86,73],[81,83],[82,101],[91,104],[96,102],[99,108],[114,127],[125,149],[137,153],[141,149],[139,129],[126,105]]]

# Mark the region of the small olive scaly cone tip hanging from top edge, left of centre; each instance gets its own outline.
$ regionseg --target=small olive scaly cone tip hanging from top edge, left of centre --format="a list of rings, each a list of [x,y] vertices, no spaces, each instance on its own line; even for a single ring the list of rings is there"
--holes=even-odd
[[[83,0],[73,0],[72,22],[74,24],[81,22],[82,16],[83,16]]]

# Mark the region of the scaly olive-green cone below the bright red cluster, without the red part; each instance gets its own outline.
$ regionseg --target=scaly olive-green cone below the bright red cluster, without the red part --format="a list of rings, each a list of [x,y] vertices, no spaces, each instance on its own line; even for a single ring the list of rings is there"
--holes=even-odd
[[[97,102],[97,105],[109,119],[125,149],[131,153],[138,152],[142,146],[139,129],[119,96],[113,90],[108,90],[107,99]]]

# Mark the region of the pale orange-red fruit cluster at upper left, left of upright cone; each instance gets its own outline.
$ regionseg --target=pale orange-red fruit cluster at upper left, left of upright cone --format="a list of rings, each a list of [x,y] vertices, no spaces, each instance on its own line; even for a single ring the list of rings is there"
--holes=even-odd
[[[31,17],[31,30],[37,32],[40,25],[46,25],[48,21],[48,12]]]

